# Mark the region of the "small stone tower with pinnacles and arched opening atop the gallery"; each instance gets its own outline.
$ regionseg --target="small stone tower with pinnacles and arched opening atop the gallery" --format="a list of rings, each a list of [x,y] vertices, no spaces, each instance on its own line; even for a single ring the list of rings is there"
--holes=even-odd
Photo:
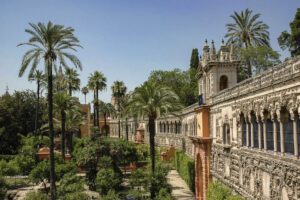
[[[219,52],[216,52],[214,41],[211,47],[207,41],[203,47],[203,56],[198,67],[199,104],[209,104],[211,97],[218,92],[231,88],[237,83],[237,67],[233,45],[227,46],[222,40]]]

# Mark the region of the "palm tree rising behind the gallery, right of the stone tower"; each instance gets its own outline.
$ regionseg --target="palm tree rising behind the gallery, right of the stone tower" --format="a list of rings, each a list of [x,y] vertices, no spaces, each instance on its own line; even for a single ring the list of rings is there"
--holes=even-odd
[[[270,46],[269,26],[258,21],[260,14],[252,15],[252,10],[246,9],[241,13],[234,12],[230,16],[234,23],[226,24],[228,38],[227,43],[233,43],[238,48],[248,48],[255,46]],[[246,61],[247,73],[252,75],[250,61]]]

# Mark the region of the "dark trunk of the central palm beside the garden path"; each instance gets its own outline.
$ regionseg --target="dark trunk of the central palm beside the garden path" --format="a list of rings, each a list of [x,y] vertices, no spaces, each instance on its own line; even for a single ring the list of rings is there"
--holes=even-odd
[[[155,119],[149,117],[149,143],[150,143],[150,158],[151,158],[151,176],[155,173]],[[151,199],[154,199],[155,191],[151,182],[150,186]]]

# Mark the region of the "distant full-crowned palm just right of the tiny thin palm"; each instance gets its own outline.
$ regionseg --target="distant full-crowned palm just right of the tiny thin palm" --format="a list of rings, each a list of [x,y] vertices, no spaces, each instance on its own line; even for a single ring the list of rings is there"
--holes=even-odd
[[[106,88],[106,77],[100,71],[95,71],[89,77],[90,86],[94,87],[94,118],[96,118],[96,123],[94,125],[99,127],[99,91],[102,91]]]

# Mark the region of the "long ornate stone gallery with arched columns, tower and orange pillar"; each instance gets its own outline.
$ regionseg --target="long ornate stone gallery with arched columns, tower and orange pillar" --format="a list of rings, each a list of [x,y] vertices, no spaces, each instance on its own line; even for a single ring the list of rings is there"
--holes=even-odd
[[[157,145],[195,159],[197,200],[206,199],[211,180],[247,199],[300,199],[300,57],[237,83],[239,64],[233,48],[222,44],[217,54],[206,42],[199,104],[159,118]],[[134,120],[129,124],[134,127]],[[147,142],[147,121],[138,124]]]

